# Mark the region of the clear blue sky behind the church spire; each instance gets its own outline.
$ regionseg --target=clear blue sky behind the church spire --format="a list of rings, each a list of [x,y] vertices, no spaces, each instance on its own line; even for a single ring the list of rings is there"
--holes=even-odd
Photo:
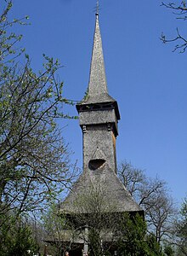
[[[65,96],[81,100],[88,86],[94,37],[96,0],[17,0],[13,17],[30,16],[31,26],[19,28],[32,67],[42,65],[42,53],[58,58]],[[187,53],[173,53],[173,44],[159,40],[175,35],[171,11],[155,0],[100,0],[99,24],[110,95],[121,120],[117,160],[129,160],[150,177],[167,181],[180,201],[187,188]],[[187,37],[187,35],[186,35]],[[77,114],[76,108],[70,110]],[[61,120],[66,142],[82,166],[82,131],[78,121]]]

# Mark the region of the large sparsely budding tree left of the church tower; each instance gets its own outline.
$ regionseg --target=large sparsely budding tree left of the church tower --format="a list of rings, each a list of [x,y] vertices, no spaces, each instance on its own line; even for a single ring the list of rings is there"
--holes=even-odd
[[[3,2],[3,0],[1,1]],[[12,2],[0,15],[0,214],[44,207],[71,182],[74,168],[57,119],[70,118],[58,60],[44,56],[35,73],[12,30],[25,19],[8,20]],[[16,45],[18,44],[18,45]],[[1,225],[1,223],[0,223]]]

